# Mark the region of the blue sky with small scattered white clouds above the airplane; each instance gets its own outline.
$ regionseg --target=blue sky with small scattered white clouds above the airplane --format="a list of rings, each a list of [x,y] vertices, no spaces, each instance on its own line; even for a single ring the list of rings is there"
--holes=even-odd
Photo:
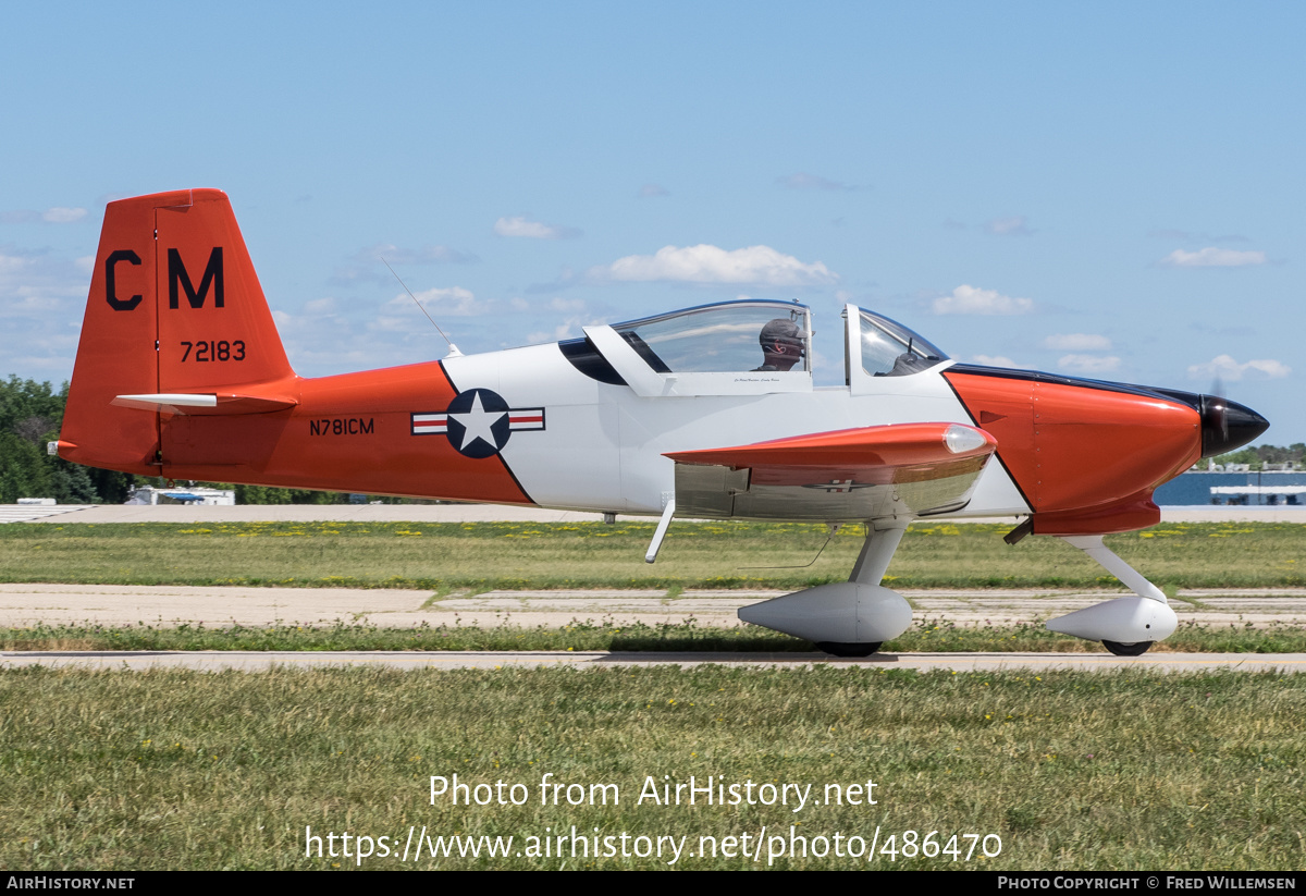
[[[1306,7],[7,4],[0,375],[72,372],[106,201],[225,189],[296,371],[854,302],[1306,440]]]

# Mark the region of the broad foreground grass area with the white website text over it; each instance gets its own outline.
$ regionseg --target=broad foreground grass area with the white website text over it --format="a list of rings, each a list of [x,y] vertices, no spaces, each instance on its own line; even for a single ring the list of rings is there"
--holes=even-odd
[[[1285,870],[1306,866],[1306,677],[700,667],[0,675],[0,867],[330,869],[306,827],[390,837],[996,835],[1000,854],[777,867]],[[619,805],[541,806],[545,775]],[[430,777],[521,784],[522,806],[431,805]],[[666,776],[663,778],[663,776]],[[684,784],[876,782],[876,805],[660,806]],[[993,845],[995,841],[990,841]],[[340,841],[337,840],[337,848]],[[363,867],[398,867],[394,857]],[[666,867],[438,858],[418,869]],[[680,867],[765,867],[684,858]]]

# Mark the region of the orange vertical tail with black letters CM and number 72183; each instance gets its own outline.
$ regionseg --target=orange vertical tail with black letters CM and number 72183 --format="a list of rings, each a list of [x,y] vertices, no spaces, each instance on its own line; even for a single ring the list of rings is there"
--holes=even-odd
[[[168,415],[296,402],[298,377],[226,195],[183,189],[110,202],[59,455],[159,474]]]

